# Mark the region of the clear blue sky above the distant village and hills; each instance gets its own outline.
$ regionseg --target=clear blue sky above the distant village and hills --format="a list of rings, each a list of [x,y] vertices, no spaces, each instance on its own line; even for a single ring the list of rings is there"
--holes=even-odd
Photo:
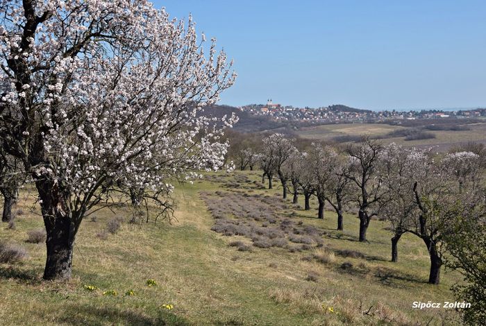
[[[486,106],[486,1],[166,0],[216,37],[229,105],[371,110]]]

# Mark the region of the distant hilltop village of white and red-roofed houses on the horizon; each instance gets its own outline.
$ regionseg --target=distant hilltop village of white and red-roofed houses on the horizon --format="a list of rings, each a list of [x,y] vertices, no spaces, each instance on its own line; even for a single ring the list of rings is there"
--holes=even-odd
[[[292,105],[273,103],[271,99],[267,104],[250,104],[239,108],[242,111],[257,116],[267,116],[277,121],[302,121],[315,123],[350,123],[350,122],[380,122],[389,120],[415,120],[415,119],[479,119],[486,117],[486,109],[474,110],[410,110],[410,111],[371,111],[350,108],[346,105],[329,105],[319,108],[296,108]]]

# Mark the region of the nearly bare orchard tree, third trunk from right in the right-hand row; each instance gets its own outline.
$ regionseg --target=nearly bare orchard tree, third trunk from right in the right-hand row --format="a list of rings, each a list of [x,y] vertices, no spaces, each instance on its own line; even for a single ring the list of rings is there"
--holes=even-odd
[[[349,157],[349,169],[344,171],[344,176],[356,189],[352,200],[359,206],[360,241],[367,241],[369,222],[385,203],[385,189],[379,173],[382,151],[383,145],[368,137],[364,137],[358,145],[348,146],[345,151]]]

